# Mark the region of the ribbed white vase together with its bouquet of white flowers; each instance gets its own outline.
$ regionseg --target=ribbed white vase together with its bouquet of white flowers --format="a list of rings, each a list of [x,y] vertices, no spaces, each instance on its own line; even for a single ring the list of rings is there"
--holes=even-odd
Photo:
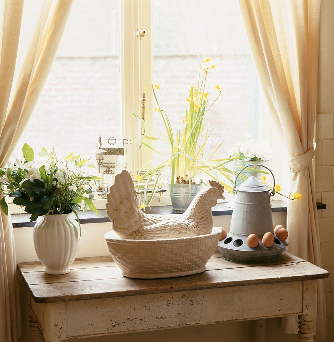
[[[60,159],[45,148],[38,156],[24,144],[22,159],[0,169],[0,205],[8,215],[6,197],[29,213],[35,224],[34,246],[48,274],[70,272],[79,247],[81,229],[77,211],[90,208],[97,181],[101,179],[88,159],[70,153]],[[78,222],[74,219],[77,217]]]

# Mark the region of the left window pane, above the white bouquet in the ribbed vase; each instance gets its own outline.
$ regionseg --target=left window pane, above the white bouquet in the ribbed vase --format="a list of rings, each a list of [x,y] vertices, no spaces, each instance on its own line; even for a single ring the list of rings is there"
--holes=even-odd
[[[13,156],[26,142],[90,156],[121,135],[119,1],[75,0],[57,56]]]

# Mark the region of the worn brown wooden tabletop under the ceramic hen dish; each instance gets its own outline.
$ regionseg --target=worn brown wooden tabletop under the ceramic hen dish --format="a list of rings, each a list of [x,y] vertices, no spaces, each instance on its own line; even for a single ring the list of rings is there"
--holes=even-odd
[[[207,263],[206,272],[166,279],[125,278],[110,256],[76,259],[72,271],[64,275],[45,274],[40,262],[21,263],[17,269],[36,303],[273,284],[329,276],[324,269],[287,252],[281,259],[264,264],[226,261],[216,253]]]

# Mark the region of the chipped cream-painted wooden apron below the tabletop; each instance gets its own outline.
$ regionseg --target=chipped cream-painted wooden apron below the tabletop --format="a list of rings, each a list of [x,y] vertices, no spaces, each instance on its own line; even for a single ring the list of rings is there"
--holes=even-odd
[[[46,341],[62,341],[300,314],[303,282],[31,305]]]

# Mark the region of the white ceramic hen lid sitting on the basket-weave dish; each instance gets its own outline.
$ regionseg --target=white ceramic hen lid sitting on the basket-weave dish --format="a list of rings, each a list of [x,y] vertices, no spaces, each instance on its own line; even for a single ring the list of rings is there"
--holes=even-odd
[[[107,214],[114,231],[123,239],[168,239],[210,234],[211,207],[217,204],[224,187],[215,181],[197,194],[183,214],[152,215],[139,208],[132,178],[126,170],[115,176],[107,195]]]

